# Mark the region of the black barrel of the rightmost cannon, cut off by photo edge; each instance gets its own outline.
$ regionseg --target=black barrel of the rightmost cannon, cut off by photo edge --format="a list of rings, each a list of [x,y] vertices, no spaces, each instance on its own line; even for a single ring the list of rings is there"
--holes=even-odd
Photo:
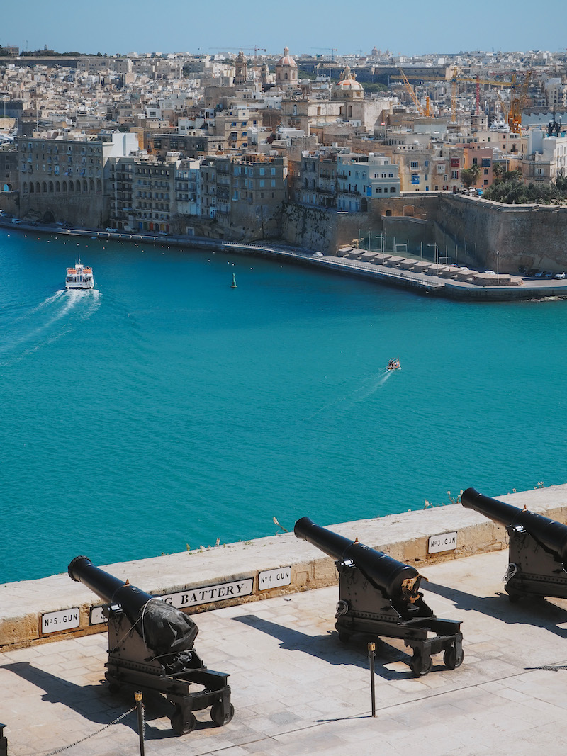
[[[479,494],[475,488],[467,488],[460,496],[460,503],[475,510],[500,525],[521,525],[539,544],[556,553],[562,562],[567,562],[567,525],[530,510],[521,510],[512,504]]]

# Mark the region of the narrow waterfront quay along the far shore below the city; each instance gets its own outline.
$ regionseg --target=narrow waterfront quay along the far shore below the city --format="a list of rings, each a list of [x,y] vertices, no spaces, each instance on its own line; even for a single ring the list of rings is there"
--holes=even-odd
[[[57,237],[86,237],[122,242],[146,242],[183,249],[212,249],[285,260],[291,264],[309,265],[336,274],[363,277],[427,296],[445,296],[450,299],[494,302],[519,299],[567,298],[567,279],[528,278],[520,275],[471,271],[457,265],[438,265],[423,258],[400,257],[370,253],[364,249],[343,247],[335,254],[317,254],[312,249],[284,243],[238,243],[206,237],[179,237],[160,234],[133,234],[119,231],[92,231],[81,228],[53,228],[52,226],[11,225],[0,218],[0,225],[18,233],[48,233]]]

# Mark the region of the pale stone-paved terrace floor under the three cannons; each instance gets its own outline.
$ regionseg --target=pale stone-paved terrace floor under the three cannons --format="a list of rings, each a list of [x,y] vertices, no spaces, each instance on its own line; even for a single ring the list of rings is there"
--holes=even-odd
[[[403,643],[376,655],[376,717],[370,716],[366,645],[343,646],[333,629],[336,587],[197,615],[197,649],[231,674],[234,719],[213,727],[197,713],[193,733],[172,733],[168,705],[147,696],[145,753],[157,756],[395,754],[484,756],[565,751],[567,601],[512,604],[501,577],[507,551],[423,569],[436,615],[463,621],[463,665],[434,657],[415,678]],[[0,720],[10,756],[64,751],[138,754],[135,714],[104,680],[107,634],[59,640],[0,656]],[[92,735],[92,733],[98,733]]]

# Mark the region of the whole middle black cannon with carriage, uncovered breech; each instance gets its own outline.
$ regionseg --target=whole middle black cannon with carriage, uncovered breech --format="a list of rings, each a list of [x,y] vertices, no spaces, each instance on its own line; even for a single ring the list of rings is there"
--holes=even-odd
[[[422,677],[432,668],[431,655],[443,651],[449,669],[463,663],[460,621],[438,619],[420,592],[422,575],[411,565],[364,544],[350,541],[308,517],[296,522],[297,538],[335,560],[339,573],[336,631],[346,643],[361,634],[404,640],[411,647],[411,671]]]

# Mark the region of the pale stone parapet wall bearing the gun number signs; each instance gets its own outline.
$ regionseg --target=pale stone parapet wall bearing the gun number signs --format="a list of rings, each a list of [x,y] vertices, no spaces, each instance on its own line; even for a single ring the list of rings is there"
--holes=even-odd
[[[567,521],[567,485],[499,498],[559,522]],[[502,526],[454,504],[328,527],[352,540],[358,537],[367,546],[401,562],[415,565],[425,576],[428,565],[435,562],[507,547],[507,534]],[[428,553],[429,537],[454,531],[457,532],[454,550]],[[70,553],[69,559],[74,556]],[[96,554],[88,556],[97,564]],[[507,564],[504,555],[502,564],[504,572]],[[175,594],[175,605],[187,608],[191,614],[325,587],[337,581],[333,559],[300,541],[293,533],[203,551],[120,562],[103,569],[123,580],[129,579],[147,593]],[[268,575],[261,575],[265,572]],[[282,576],[285,584],[277,584]],[[265,580],[263,586],[260,578]],[[270,587],[271,582],[276,585]],[[102,603],[82,584],[71,581],[66,573],[4,584],[0,587],[0,650],[105,631],[106,624],[91,624],[91,609]],[[58,627],[51,624],[47,629],[45,623],[50,621],[53,612],[60,613],[57,617],[60,624]],[[76,627],[65,627],[69,618],[76,618]]]

